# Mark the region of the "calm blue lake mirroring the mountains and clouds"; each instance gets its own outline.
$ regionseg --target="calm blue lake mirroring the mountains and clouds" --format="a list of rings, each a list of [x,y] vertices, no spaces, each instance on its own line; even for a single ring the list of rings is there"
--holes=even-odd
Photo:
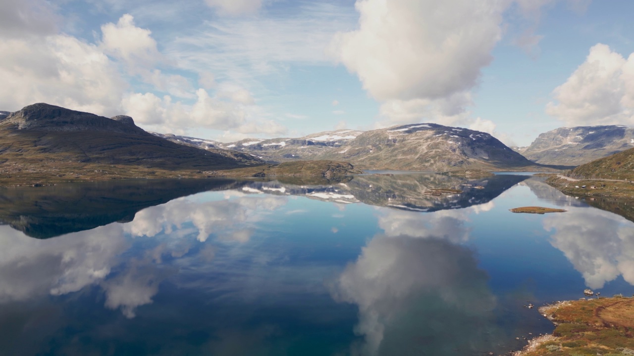
[[[1,188],[0,355],[499,355],[552,331],[528,303],[634,293],[626,204],[528,175]]]

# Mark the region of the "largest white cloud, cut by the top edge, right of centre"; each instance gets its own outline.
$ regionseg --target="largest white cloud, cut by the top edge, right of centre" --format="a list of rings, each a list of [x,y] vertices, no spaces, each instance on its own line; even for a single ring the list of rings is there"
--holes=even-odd
[[[359,29],[330,52],[380,100],[468,91],[501,37],[502,1],[358,0]]]

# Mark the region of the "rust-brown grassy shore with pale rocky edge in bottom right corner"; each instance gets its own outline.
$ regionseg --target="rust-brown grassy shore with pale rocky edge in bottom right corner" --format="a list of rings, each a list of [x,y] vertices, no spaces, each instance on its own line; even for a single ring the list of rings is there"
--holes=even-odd
[[[590,298],[539,308],[557,327],[515,356],[634,355],[634,298]]]

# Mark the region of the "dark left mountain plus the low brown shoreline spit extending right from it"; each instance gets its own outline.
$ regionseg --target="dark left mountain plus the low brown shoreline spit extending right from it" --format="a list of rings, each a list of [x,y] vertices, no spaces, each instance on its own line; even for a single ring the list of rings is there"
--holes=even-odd
[[[124,115],[107,118],[45,103],[0,115],[3,184],[358,172],[349,163],[332,161],[273,167],[245,152],[174,143],[146,132]]]

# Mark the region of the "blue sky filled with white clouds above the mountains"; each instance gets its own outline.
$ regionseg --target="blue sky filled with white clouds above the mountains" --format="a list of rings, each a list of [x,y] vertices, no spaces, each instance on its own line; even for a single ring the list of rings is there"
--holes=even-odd
[[[630,0],[0,0],[0,110],[222,142],[634,126]]]

